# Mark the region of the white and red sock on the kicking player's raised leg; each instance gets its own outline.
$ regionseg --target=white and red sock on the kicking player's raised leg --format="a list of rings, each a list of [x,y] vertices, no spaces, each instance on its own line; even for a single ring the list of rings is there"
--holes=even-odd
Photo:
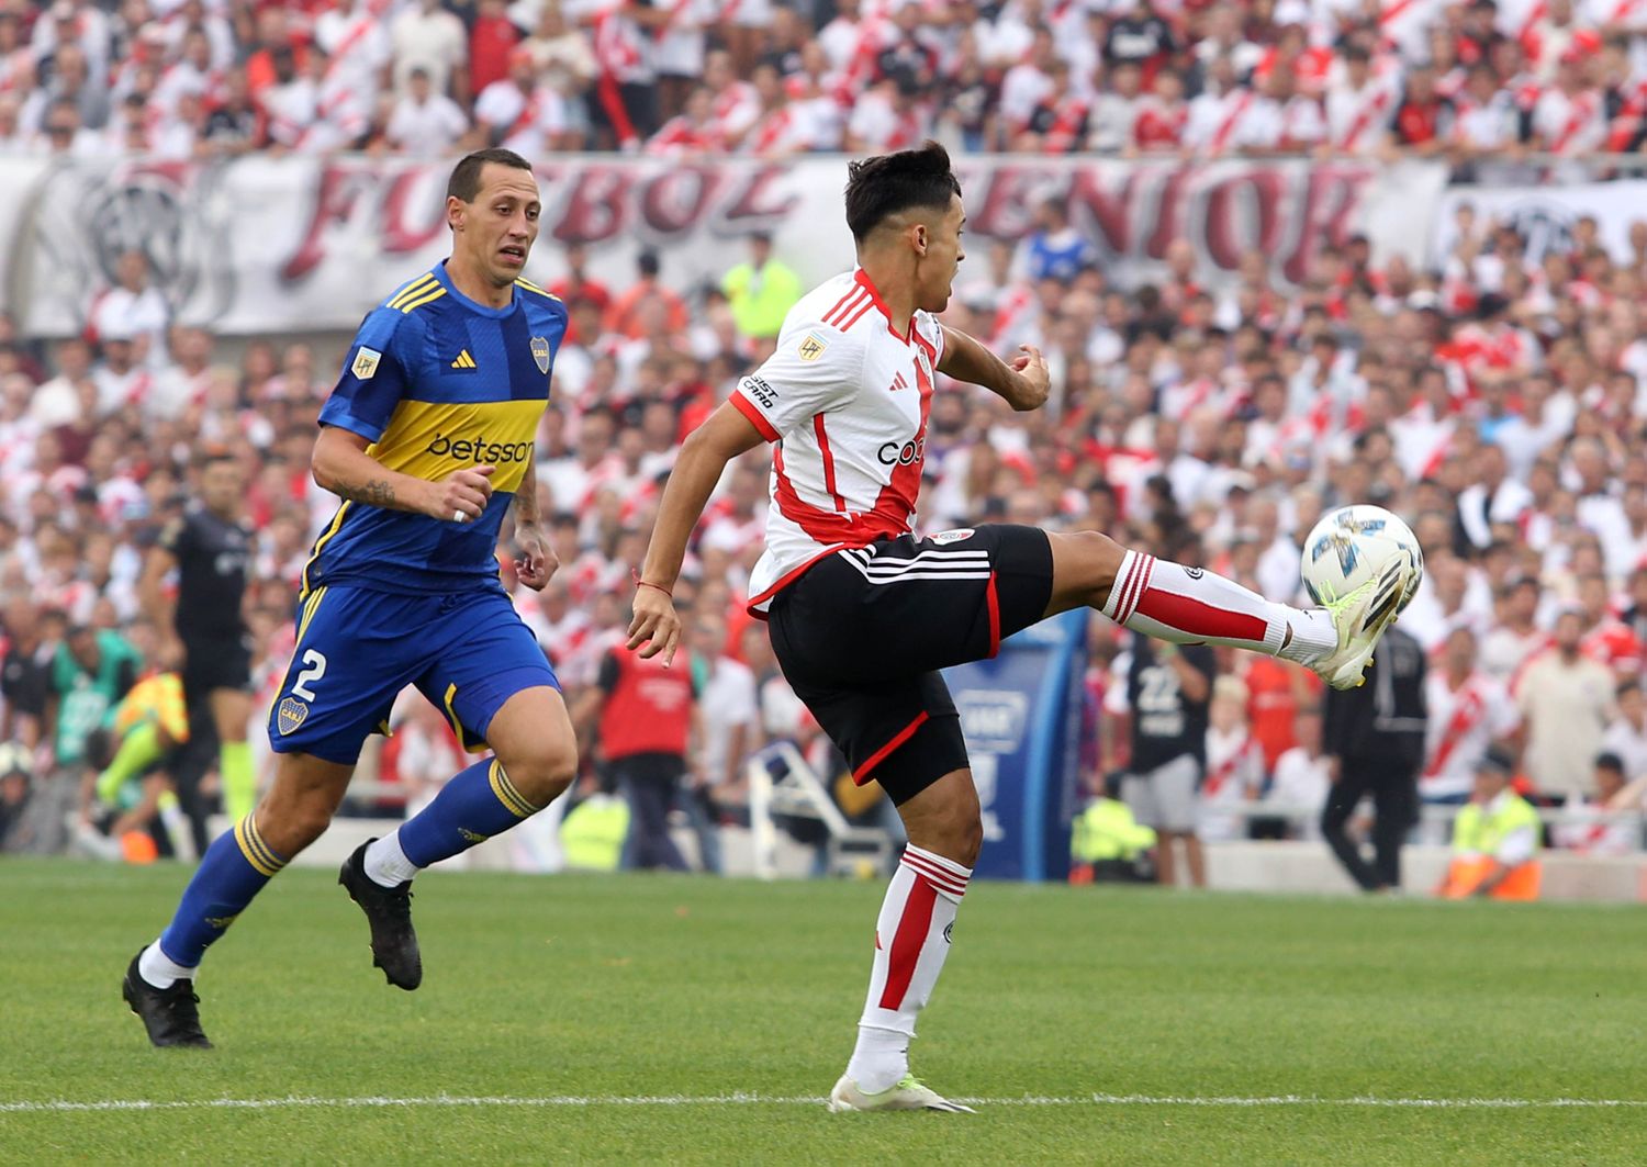
[[[1337,649],[1326,612],[1275,604],[1225,576],[1141,551],[1122,556],[1103,614],[1156,640],[1225,644],[1301,665]]]

